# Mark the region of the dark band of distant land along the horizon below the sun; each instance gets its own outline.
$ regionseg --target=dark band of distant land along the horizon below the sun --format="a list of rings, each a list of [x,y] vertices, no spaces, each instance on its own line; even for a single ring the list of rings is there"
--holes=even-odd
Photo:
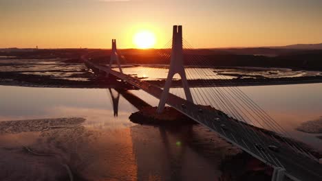
[[[0,56],[17,58],[65,58],[65,62],[81,63],[87,54],[94,62],[109,61],[109,49],[33,49],[32,51],[0,51]],[[121,49],[122,64],[169,64],[170,49]],[[288,67],[322,70],[322,50],[243,48],[243,49],[187,49],[185,65],[215,67]],[[198,57],[198,58],[197,58]],[[206,61],[201,61],[206,60]]]

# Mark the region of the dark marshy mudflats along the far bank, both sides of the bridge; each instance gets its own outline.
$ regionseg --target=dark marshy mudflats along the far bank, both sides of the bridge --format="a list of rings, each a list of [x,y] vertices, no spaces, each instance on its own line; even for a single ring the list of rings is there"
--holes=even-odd
[[[49,62],[49,63],[48,63]],[[39,66],[41,65],[41,66]],[[139,64],[122,65],[126,67],[136,67]],[[144,65],[147,66],[147,65]],[[160,67],[160,64],[149,64],[151,67]],[[164,65],[162,65],[164,66]],[[168,65],[169,66],[169,65]],[[186,66],[189,68],[190,66]],[[209,69],[209,67],[200,67]],[[228,67],[227,67],[228,68]],[[264,73],[247,73],[248,70],[255,69],[254,67],[230,67],[230,69],[241,69],[243,72],[222,72],[224,67],[212,67],[214,74],[219,76],[233,76],[232,79],[217,79],[217,77],[202,77],[202,79],[188,80],[189,86],[193,87],[220,87],[220,86],[266,86],[266,85],[286,85],[286,84],[315,84],[322,83],[321,72],[306,72],[299,71],[294,77],[288,77],[290,74],[279,72],[270,72],[283,70],[283,68],[260,68],[270,70]],[[97,69],[92,69],[86,66],[83,62],[69,63],[65,59],[55,60],[19,60],[0,63],[0,85],[3,86],[29,86],[29,87],[52,87],[52,88],[133,88],[132,85],[121,82],[118,77],[105,77],[105,73]],[[223,69],[222,71],[215,71]],[[259,68],[257,68],[259,69]],[[285,70],[284,70],[285,71]],[[301,72],[305,72],[303,75]],[[278,76],[267,77],[266,75]],[[294,73],[291,73],[294,75]],[[300,75],[300,76],[298,76]],[[134,74],[133,74],[134,76]],[[164,87],[165,77],[154,77],[149,80],[149,77],[140,77],[142,81],[149,82],[155,86]],[[181,80],[173,80],[171,87],[182,87]],[[136,89],[136,88],[133,88]]]

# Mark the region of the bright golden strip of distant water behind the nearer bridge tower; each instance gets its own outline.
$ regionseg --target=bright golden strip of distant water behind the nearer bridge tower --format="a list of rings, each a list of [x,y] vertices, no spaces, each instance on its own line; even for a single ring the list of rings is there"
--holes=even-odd
[[[118,71],[118,68],[114,68]],[[202,67],[185,67],[186,77],[188,80],[197,79],[219,79],[231,80],[233,78],[281,78],[281,77],[308,77],[321,76],[321,71],[295,71],[292,69],[279,68],[254,68],[254,67],[229,67],[229,68],[202,68]],[[167,65],[144,65],[138,67],[125,67],[122,69],[125,74],[137,75],[144,80],[162,80],[166,79],[169,71]],[[175,74],[173,79],[179,80],[180,76]]]

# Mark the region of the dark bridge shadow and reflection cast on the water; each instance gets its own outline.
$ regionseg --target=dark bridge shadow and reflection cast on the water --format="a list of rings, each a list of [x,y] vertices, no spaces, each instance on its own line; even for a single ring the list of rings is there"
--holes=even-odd
[[[150,106],[116,92],[138,110]],[[129,136],[138,180],[270,180],[271,169],[202,125],[133,125]]]

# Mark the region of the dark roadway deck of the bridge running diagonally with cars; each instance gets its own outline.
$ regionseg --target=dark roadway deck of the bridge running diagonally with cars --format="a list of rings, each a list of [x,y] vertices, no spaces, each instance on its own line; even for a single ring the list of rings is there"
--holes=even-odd
[[[144,90],[157,99],[160,99],[162,95],[163,90],[158,86],[153,86],[152,84],[141,81],[136,77],[131,77],[130,75],[125,75],[118,71],[111,70],[109,67],[93,64],[92,62],[88,63],[96,69],[100,69],[106,73],[111,73],[112,75],[119,77],[121,80]],[[277,139],[268,134],[264,134],[257,129],[250,128],[249,125],[241,126],[237,121],[233,121],[215,110],[208,110],[171,93],[169,93],[167,104],[194,121],[206,126],[208,129],[217,132],[217,134],[226,139],[226,141],[239,147],[244,150],[244,152],[247,152],[262,162],[265,162],[266,165],[270,165],[270,167],[273,168],[282,167],[286,169],[286,176],[292,180],[322,180],[322,166],[319,162],[308,158],[310,157],[308,154],[305,156],[305,153],[303,152],[295,152],[293,150],[294,147],[291,149],[292,146],[286,146],[286,143],[280,141],[277,143]],[[245,132],[246,134],[243,134]],[[261,145],[263,149],[259,149],[255,146],[251,139],[259,141],[257,143],[259,143],[258,145]],[[273,152],[268,149],[268,145],[283,146],[280,147],[279,152]]]

